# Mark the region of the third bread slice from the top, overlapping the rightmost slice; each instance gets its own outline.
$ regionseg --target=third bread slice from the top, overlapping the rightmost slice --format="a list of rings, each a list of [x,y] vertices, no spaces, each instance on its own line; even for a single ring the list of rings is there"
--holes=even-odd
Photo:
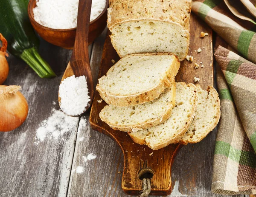
[[[129,135],[138,144],[145,144],[153,150],[175,143],[185,134],[195,115],[197,91],[194,84],[176,83],[175,107],[169,119],[163,123],[130,132]]]

